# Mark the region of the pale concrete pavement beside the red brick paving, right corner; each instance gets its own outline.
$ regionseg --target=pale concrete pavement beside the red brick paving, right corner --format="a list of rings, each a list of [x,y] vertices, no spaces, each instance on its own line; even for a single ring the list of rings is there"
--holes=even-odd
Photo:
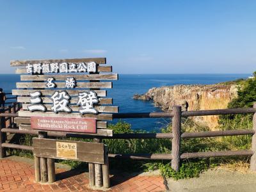
[[[199,178],[173,180],[168,179],[168,188],[172,192],[194,191],[232,191],[232,192],[255,192],[256,173],[232,172],[230,170],[208,170]]]

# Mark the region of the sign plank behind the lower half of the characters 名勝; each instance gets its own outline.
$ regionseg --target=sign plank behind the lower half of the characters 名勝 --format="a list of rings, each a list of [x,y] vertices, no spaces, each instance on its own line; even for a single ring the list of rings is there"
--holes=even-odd
[[[16,83],[17,88],[45,88],[45,82]],[[65,88],[64,82],[56,82],[57,88]],[[112,82],[77,82],[76,88],[112,88]],[[47,89],[48,90],[48,89]],[[49,89],[50,90],[50,89]]]

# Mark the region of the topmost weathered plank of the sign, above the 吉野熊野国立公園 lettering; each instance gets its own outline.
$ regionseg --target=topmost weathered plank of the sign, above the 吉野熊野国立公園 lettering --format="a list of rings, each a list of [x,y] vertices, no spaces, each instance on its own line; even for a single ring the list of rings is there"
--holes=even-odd
[[[13,60],[10,65],[13,67],[35,64],[35,63],[80,63],[94,61],[97,64],[106,64],[106,58],[77,58],[77,59],[65,59],[65,60]]]

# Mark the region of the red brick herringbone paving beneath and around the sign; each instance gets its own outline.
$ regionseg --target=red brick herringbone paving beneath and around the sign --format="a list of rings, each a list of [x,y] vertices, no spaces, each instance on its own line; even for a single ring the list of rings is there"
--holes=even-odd
[[[19,158],[17,158],[19,159]],[[92,191],[88,188],[88,174],[57,168],[54,184],[34,182],[33,165],[26,161],[0,159],[0,191]],[[112,175],[109,191],[166,191],[159,176],[128,177]]]

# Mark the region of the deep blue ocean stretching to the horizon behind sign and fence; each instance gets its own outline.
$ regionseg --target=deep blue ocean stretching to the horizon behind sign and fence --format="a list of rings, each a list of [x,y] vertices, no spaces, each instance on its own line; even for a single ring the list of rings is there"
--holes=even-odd
[[[136,93],[145,93],[152,87],[171,86],[175,84],[214,84],[247,78],[250,74],[121,74],[118,81],[113,81],[113,89],[108,90],[108,97],[113,104],[119,106],[120,113],[156,112],[151,101],[133,100]],[[12,92],[15,83],[20,81],[16,74],[0,74],[0,88],[4,92]],[[113,120],[113,123],[118,120]],[[159,132],[170,122],[169,118],[122,119],[132,125],[132,129]]]

